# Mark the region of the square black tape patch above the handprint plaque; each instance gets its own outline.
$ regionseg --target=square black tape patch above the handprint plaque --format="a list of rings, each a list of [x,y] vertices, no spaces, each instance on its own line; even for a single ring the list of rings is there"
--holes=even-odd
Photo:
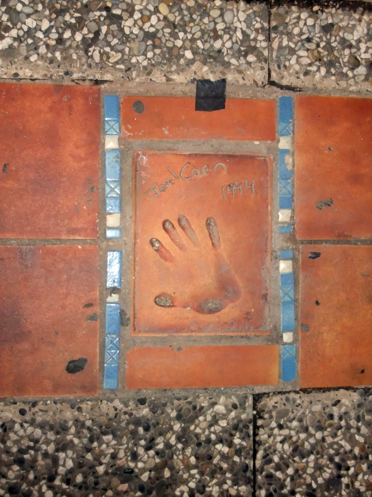
[[[195,110],[223,110],[226,102],[226,80],[196,80]]]

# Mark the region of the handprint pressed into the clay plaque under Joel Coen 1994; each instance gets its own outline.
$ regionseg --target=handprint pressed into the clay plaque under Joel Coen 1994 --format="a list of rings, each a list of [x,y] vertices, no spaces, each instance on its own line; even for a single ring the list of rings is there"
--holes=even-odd
[[[151,247],[159,257],[170,264],[170,269],[172,268],[172,264],[177,263],[176,258],[179,258],[179,255],[185,255],[186,257],[187,254],[191,255],[188,252],[190,252],[193,247],[200,248],[199,239],[186,216],[179,216],[178,224],[185,233],[188,239],[187,242],[190,242],[192,245],[184,242],[182,236],[169,219],[163,221],[163,229],[176,248],[183,252],[183,254],[178,253],[175,257],[164,247],[160,240],[157,238],[152,238],[150,240]],[[241,286],[222,253],[220,235],[215,219],[209,217],[205,222],[205,226],[212,244],[212,248],[207,250],[207,253],[209,252],[211,257],[214,258],[215,284],[213,285],[213,288],[196,292],[196,294],[190,295],[187,299],[178,298],[177,295],[171,296],[168,293],[160,293],[154,299],[157,306],[164,308],[181,307],[184,309],[192,309],[200,314],[216,314],[242,297]],[[193,253],[195,254],[196,259],[193,260],[193,263],[191,262],[191,264],[194,268],[197,268],[197,271],[202,271],[203,264],[200,259],[201,251],[199,256],[196,255],[197,251],[194,250]]]

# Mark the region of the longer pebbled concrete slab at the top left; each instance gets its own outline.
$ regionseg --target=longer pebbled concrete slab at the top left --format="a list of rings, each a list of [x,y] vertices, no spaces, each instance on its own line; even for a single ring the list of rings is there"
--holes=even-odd
[[[0,19],[1,78],[267,83],[264,2],[6,0]]]

